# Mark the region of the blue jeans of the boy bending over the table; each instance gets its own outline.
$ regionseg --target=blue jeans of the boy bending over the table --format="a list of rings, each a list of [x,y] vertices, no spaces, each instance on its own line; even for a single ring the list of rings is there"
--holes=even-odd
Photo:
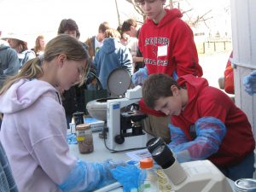
[[[236,181],[240,178],[253,178],[254,167],[254,153],[248,154],[247,157],[241,161],[241,163],[235,166],[218,167],[218,169],[224,173],[226,177]]]

